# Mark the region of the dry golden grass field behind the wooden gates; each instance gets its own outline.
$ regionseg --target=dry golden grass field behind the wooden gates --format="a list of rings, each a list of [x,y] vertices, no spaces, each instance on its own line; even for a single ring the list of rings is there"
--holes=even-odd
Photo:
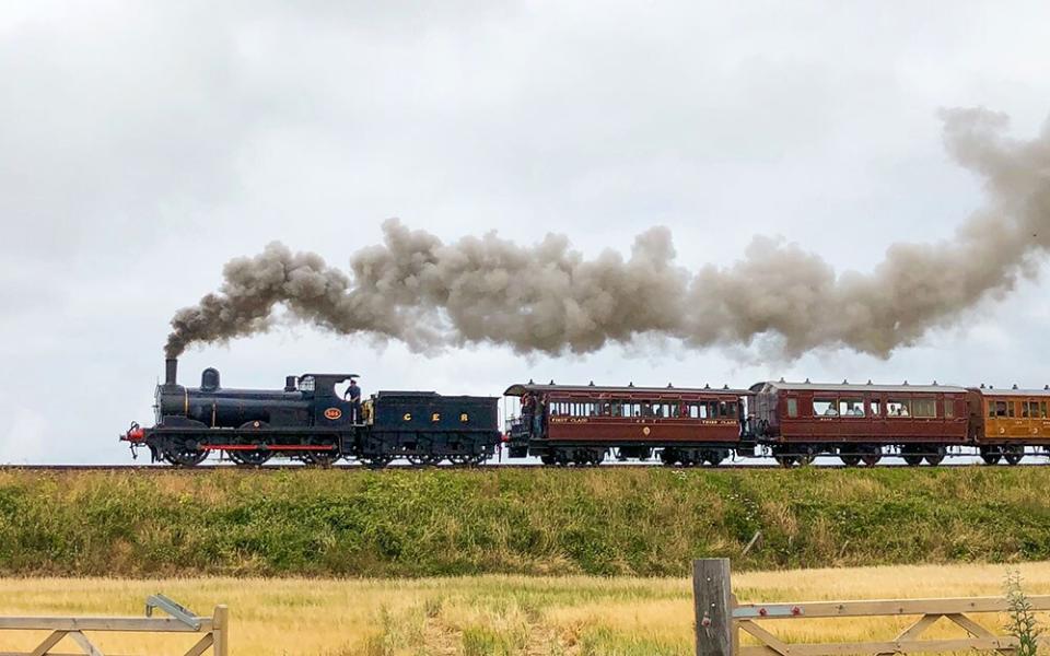
[[[1050,563],[1011,565],[1028,594],[1050,594]],[[751,572],[742,601],[996,596],[1004,565]],[[233,653],[378,655],[688,655],[689,582],[678,578],[478,576],[425,579],[0,579],[0,614],[131,614],[152,593],[200,613],[228,604]],[[1001,618],[981,621],[996,626]],[[883,640],[906,618],[769,623],[789,641]],[[936,626],[931,635],[960,635]],[[0,651],[40,635],[0,633]],[[172,654],[191,640],[95,634],[104,652]],[[33,643],[35,644],[35,643]],[[177,652],[180,653],[180,652]]]

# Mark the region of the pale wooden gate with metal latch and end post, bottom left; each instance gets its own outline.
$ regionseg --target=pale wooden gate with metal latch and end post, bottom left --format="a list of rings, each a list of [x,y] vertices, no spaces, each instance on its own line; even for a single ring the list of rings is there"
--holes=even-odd
[[[172,617],[154,618],[154,609]],[[50,631],[32,652],[0,652],[0,656],[106,656],[86,635],[95,632],[200,634],[185,656],[201,656],[209,649],[213,656],[229,656],[230,625],[225,606],[217,606],[212,617],[202,618],[167,597],[154,595],[147,599],[145,614],[144,618],[0,617],[0,631]],[[68,654],[51,651],[63,641],[72,642],[80,652]]]

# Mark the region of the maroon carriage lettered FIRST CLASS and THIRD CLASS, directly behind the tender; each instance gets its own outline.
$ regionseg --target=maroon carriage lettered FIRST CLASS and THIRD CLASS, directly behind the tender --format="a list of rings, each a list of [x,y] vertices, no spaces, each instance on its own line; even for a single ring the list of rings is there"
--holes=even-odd
[[[597,465],[610,452],[645,460],[658,452],[668,465],[718,465],[732,450],[754,453],[742,440],[746,390],[667,387],[512,385],[521,399],[509,423],[512,457],[545,464]]]

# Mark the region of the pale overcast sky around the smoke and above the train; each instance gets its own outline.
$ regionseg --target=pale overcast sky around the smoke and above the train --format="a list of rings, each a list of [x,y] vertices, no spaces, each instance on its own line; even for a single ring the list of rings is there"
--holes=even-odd
[[[558,232],[626,255],[665,225],[690,269],[782,235],[868,271],[981,204],[938,108],[1038,132],[1048,24],[1046,2],[4,2],[0,462],[129,460],[116,436],[152,423],[172,314],[275,239],[345,265],[398,216],[446,241]],[[366,394],[529,377],[1042,387],[1045,269],[887,361],[421,356],[299,326],[192,348],[180,382],[215,365],[243,387],[352,370]]]

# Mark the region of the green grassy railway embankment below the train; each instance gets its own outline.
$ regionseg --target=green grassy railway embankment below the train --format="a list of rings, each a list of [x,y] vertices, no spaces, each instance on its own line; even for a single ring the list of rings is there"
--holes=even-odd
[[[737,570],[1047,560],[1048,489],[1050,467],[8,470],[0,574],[677,576],[696,557]],[[761,547],[742,557],[758,530]]]

